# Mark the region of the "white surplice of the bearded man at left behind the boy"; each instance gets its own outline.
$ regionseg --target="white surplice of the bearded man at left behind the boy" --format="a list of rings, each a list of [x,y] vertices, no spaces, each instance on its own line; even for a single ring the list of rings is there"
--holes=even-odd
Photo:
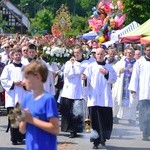
[[[4,67],[4,70],[1,74],[1,84],[5,89],[5,107],[14,107],[17,102],[22,102],[26,90],[21,87],[14,85],[14,81],[23,80],[23,65],[22,67],[15,67],[14,64],[9,64]],[[13,88],[12,88],[13,87]],[[12,89],[11,89],[12,88]]]

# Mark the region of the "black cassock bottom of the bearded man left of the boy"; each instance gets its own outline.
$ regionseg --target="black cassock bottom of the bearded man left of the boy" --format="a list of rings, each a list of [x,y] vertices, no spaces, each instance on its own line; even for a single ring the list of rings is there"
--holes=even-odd
[[[14,107],[7,107],[7,114],[9,113],[10,110],[14,109]],[[8,126],[7,130],[10,128],[10,136],[11,136],[11,141],[12,142],[17,142],[17,141],[22,141],[25,138],[24,134],[21,134],[19,132],[19,127],[18,128],[12,128],[10,124],[10,120],[8,118]],[[6,131],[7,131],[6,130]]]

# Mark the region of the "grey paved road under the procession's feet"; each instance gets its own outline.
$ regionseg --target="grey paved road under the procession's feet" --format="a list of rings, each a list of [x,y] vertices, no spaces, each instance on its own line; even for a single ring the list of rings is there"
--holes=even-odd
[[[6,133],[7,117],[0,116],[0,150],[24,150],[25,145],[11,145],[10,133]],[[58,150],[92,150],[89,142],[89,134],[81,134],[79,137],[70,139],[69,134],[60,133],[58,136]],[[142,134],[138,127],[129,126],[123,120],[114,124],[111,139],[106,142],[103,150],[150,150],[150,141],[142,141]],[[44,149],[43,149],[44,150]]]

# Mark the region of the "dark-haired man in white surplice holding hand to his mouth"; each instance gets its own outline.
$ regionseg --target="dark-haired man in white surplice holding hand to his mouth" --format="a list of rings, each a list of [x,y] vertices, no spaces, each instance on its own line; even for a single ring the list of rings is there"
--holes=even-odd
[[[65,63],[64,86],[61,93],[61,131],[70,132],[70,138],[83,131],[83,86],[81,75],[88,61],[83,59],[80,46],[73,49],[74,57]]]

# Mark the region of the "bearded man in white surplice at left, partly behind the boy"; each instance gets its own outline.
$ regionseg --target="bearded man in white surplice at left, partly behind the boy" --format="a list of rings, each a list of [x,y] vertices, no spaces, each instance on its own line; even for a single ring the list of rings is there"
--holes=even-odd
[[[23,65],[21,64],[21,49],[13,50],[13,62],[5,66],[1,74],[1,84],[5,89],[5,107],[7,112],[14,108],[17,102],[23,100],[26,90],[23,86]],[[12,144],[17,145],[22,142],[23,136],[19,129],[10,128]]]

